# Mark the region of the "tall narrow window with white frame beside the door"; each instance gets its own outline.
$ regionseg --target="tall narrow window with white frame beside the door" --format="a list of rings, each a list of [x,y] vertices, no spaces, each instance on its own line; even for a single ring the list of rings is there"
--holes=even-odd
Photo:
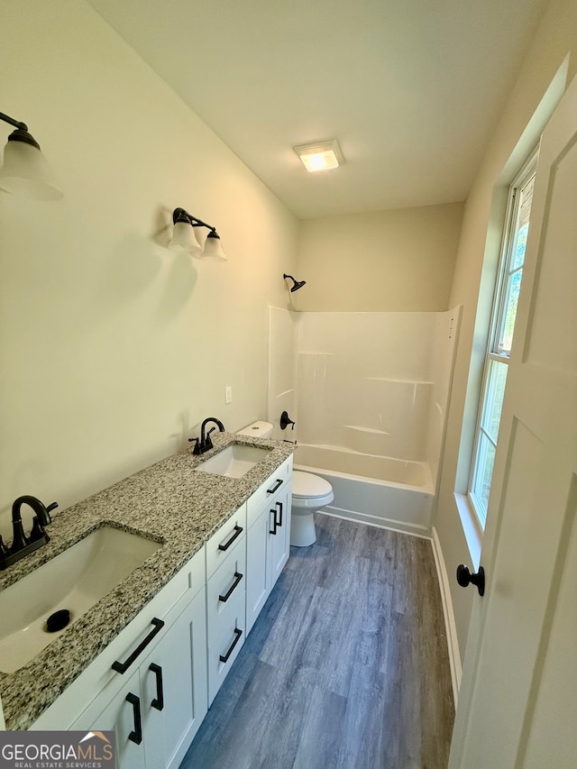
[[[507,383],[508,359],[513,343],[517,301],[523,277],[536,162],[537,152],[535,151],[509,188],[505,232],[491,312],[489,343],[485,356],[469,481],[469,497],[483,529],[487,519],[490,481]]]

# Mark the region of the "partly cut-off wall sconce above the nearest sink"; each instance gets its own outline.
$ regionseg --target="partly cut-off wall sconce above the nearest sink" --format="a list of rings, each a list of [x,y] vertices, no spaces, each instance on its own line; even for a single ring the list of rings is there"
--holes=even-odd
[[[0,112],[0,120],[14,125],[4,151],[4,165],[0,169],[0,188],[37,200],[58,200],[61,190],[52,179],[50,166],[41,153],[40,144],[28,126],[14,117]]]

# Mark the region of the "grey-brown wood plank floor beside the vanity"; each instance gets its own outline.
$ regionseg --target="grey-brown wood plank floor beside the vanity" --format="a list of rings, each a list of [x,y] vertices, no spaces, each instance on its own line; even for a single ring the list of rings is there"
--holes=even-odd
[[[445,769],[453,691],[430,542],[316,515],[180,769]]]

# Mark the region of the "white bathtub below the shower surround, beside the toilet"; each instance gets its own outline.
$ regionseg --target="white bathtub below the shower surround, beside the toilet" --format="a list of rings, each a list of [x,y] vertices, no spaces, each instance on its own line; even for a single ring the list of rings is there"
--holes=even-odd
[[[333,486],[334,516],[413,534],[430,533],[435,489],[426,462],[298,444],[295,470],[314,472]]]

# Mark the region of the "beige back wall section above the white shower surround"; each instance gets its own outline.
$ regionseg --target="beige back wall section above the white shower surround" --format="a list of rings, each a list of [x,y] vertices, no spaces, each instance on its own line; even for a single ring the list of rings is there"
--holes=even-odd
[[[299,310],[448,309],[463,204],[328,216],[301,223]],[[452,306],[453,307],[453,306]]]

